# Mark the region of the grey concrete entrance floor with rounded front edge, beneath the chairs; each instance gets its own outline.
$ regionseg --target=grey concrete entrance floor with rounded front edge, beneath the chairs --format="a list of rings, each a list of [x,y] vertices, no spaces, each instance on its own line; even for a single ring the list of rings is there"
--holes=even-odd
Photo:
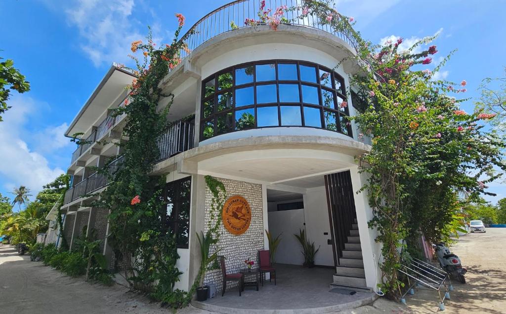
[[[357,292],[344,295],[329,292],[334,269],[304,268],[295,265],[276,265],[277,285],[266,282],[256,291],[246,287],[242,296],[237,288],[227,289],[205,302],[193,302],[195,307],[222,313],[275,312],[275,313],[322,313],[334,312],[370,303],[373,293]]]

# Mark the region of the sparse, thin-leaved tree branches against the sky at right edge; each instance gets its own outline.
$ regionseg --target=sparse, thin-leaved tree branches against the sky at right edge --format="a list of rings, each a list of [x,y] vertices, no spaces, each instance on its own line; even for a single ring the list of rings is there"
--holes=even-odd
[[[506,67],[504,68],[506,74]],[[506,75],[486,78],[480,85],[481,97],[476,101],[478,114],[493,115],[490,122],[497,132],[506,132]]]

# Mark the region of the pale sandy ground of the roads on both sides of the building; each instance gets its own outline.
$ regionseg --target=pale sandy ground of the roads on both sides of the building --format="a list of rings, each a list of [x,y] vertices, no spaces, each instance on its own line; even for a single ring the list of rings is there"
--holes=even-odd
[[[487,229],[485,234],[459,238],[452,250],[468,268],[468,283],[453,281],[455,291],[446,301],[447,313],[506,313],[506,229]],[[435,313],[435,291],[417,289],[406,298],[407,305],[385,299],[343,314]],[[120,285],[92,285],[82,278],[69,278],[58,271],[30,262],[13,247],[0,246],[0,313],[170,313],[158,303],[128,292]],[[188,307],[181,314],[206,314]]]

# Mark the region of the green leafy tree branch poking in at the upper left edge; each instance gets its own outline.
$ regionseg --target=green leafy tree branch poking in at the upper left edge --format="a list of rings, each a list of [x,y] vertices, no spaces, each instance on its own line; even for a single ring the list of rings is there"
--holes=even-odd
[[[4,60],[4,58],[0,57],[0,60]],[[14,61],[7,59],[0,62],[0,122],[3,121],[2,114],[11,108],[7,106],[11,89],[24,93],[30,90],[30,83],[25,80],[19,70],[14,68]]]

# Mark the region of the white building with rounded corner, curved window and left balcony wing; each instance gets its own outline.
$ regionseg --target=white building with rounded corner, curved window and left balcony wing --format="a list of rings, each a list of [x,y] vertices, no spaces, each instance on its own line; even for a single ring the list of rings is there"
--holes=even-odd
[[[277,263],[301,265],[300,244],[292,234],[305,229],[320,247],[315,264],[336,269],[327,285],[372,289],[379,280],[374,264],[380,247],[367,226],[372,211],[366,194],[356,193],[366,179],[355,159],[370,146],[347,120],[356,114],[348,88],[358,66],[345,59],[355,54],[353,42],[315,19],[281,24],[276,31],[268,25],[242,27],[245,12],[256,16],[254,2],[258,10],[256,0],[235,2],[196,23],[187,40],[191,53],[161,85],[175,95],[170,121],[195,115],[167,130],[154,171],[183,195],[168,205],[166,218],[178,234],[177,266],[183,275],[176,287],[187,290],[198,272],[195,233],[209,219],[204,176],[212,175],[225,184],[227,196],[242,196],[251,208],[243,234],[222,226],[220,246],[230,271],[268,249],[264,230],[283,233]],[[231,20],[241,27],[232,29]],[[95,229],[109,257],[107,212],[90,207],[97,196],[82,195],[106,185],[90,167],[104,167],[113,156],[117,159],[107,167],[120,166],[118,147],[96,141],[121,140],[124,117],[113,118],[110,109],[128,101],[124,87],[132,79],[112,66],[66,131],[68,136],[83,132],[92,143],[72,155],[64,233],[72,246],[84,226]],[[206,282],[220,287],[221,273],[209,273]]]

